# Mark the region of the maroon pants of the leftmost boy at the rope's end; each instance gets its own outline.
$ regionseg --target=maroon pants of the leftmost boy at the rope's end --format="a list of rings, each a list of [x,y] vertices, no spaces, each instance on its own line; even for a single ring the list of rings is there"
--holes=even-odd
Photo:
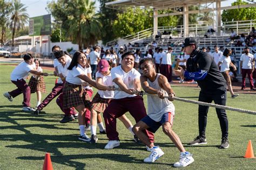
[[[30,87],[28,84],[26,84],[26,81],[24,79],[20,79],[17,81],[11,81],[13,84],[15,84],[18,88],[9,92],[9,94],[15,98],[16,96],[19,96],[19,94],[23,93],[23,107],[29,107],[30,106]]]

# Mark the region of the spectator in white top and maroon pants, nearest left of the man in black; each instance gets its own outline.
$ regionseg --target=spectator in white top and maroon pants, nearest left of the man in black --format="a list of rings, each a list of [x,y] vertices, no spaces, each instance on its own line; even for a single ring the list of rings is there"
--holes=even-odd
[[[163,49],[160,49],[160,52],[162,54],[160,61],[160,73],[163,74],[170,83],[172,81],[172,47],[168,47],[167,53],[165,53]]]

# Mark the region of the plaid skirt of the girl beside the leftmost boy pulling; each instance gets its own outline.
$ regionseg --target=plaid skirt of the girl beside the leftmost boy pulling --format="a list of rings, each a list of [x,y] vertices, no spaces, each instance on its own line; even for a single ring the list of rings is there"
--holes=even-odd
[[[29,80],[29,87],[30,87],[31,93],[35,93],[37,91],[45,93],[46,89],[45,89],[44,77],[40,76],[39,79],[37,80],[36,78],[31,76]]]

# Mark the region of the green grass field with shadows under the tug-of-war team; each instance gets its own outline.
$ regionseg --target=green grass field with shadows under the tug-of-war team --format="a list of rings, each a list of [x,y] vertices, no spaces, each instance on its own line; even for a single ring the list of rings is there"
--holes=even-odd
[[[118,120],[120,146],[105,150],[106,135],[98,134],[98,143],[87,144],[78,140],[77,120],[60,124],[62,112],[53,100],[43,113],[33,115],[21,111],[23,95],[10,102],[2,96],[16,87],[10,82],[15,66],[0,65],[0,169],[42,169],[45,152],[51,154],[54,169],[169,169],[179,160],[179,151],[161,131],[155,135],[156,145],[165,152],[153,164],[143,159],[150,154],[145,146],[132,141],[131,133]],[[45,71],[50,72],[50,71]],[[47,93],[54,86],[55,78],[45,77]],[[198,100],[199,88],[173,85],[177,97]],[[95,91],[96,92],[96,91]],[[227,106],[254,110],[255,94],[240,94]],[[146,96],[144,96],[146,105]],[[227,111],[230,148],[219,149],[221,132],[215,108],[210,108],[207,124],[207,145],[186,145],[198,135],[198,106],[174,101],[176,117],[173,130],[179,135],[187,151],[193,153],[194,162],[186,169],[255,169],[256,159],[245,159],[248,140],[256,150],[256,115]],[[31,96],[31,106],[36,105],[36,94]],[[126,113],[132,123],[134,119]],[[97,130],[99,131],[99,130]],[[89,132],[88,132],[89,133]],[[89,133],[90,135],[90,133]]]

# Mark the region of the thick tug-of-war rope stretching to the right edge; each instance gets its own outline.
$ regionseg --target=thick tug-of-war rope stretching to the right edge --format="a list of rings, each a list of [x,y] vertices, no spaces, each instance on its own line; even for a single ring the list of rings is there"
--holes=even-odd
[[[116,88],[116,87],[114,87],[113,90],[122,91],[121,89]],[[143,96],[143,95],[157,96],[157,94],[150,94],[150,93],[146,93],[144,91],[140,91],[139,95],[140,96]],[[169,98],[169,96],[165,96],[165,98]],[[249,113],[249,114],[254,114],[254,115],[256,114],[255,111],[245,110],[245,109],[241,109],[241,108],[234,108],[234,107],[229,107],[229,106],[217,105],[217,104],[213,104],[213,103],[205,103],[203,101],[188,100],[188,99],[179,98],[179,97],[172,97],[172,98],[174,100],[184,101],[186,103],[193,103],[193,104],[197,104],[197,105],[201,105],[201,106],[215,107],[215,108],[220,108],[220,109],[224,109],[224,110],[230,110],[230,111],[241,112],[241,113]]]

